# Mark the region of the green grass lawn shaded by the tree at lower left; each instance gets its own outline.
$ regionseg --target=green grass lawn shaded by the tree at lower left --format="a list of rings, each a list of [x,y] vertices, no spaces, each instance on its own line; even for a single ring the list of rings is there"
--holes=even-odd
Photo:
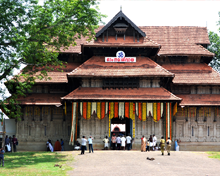
[[[5,167],[0,166],[0,175],[66,175],[73,168],[72,152],[16,152],[5,153]],[[58,164],[60,167],[54,167]]]

